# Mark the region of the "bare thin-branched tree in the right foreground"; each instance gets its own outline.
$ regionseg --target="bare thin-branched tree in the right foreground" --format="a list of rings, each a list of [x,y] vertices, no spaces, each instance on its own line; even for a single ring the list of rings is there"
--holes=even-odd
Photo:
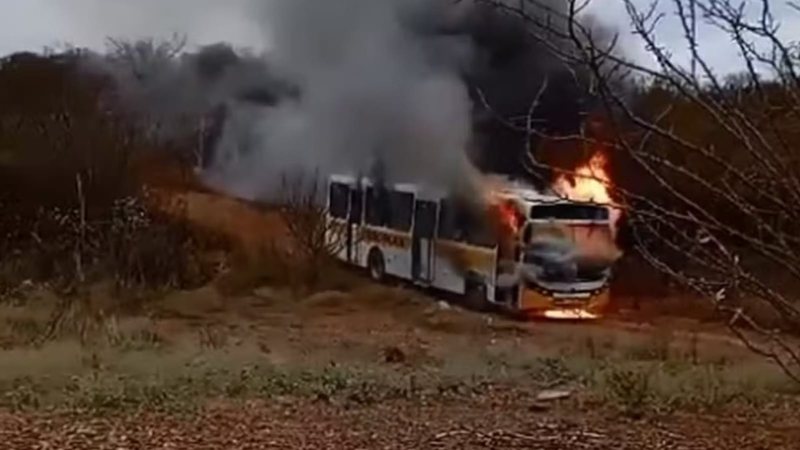
[[[752,350],[800,382],[800,347],[787,337],[800,331],[800,53],[781,38],[774,5],[619,0],[651,66],[598,33],[587,19],[592,0],[485,1],[526,21],[531,39],[586,83],[615,131],[614,157],[647,174],[647,185],[613,186],[639,252],[710,299]],[[659,41],[664,5],[683,32],[684,63]],[[735,77],[704,57],[708,30],[736,46]],[[529,162],[543,165],[532,153]]]

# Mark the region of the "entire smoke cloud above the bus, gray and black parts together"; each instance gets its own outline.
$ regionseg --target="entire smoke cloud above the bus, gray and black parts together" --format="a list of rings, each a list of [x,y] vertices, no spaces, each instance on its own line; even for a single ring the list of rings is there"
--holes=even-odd
[[[499,118],[526,115],[545,79],[537,126],[581,122],[575,68],[474,0],[251,0],[250,13],[266,55],[217,45],[172,57],[140,43],[103,61],[160,135],[210,117],[206,177],[243,197],[269,199],[293,172],[369,174],[378,162],[390,179],[455,189],[475,180],[470,159],[524,175],[531,143]]]

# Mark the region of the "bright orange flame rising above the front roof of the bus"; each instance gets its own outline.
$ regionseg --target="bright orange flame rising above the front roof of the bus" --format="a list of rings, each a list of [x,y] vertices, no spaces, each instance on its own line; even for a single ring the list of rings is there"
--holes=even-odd
[[[614,205],[609,193],[613,184],[607,166],[605,154],[597,151],[589,162],[575,169],[574,173],[561,175],[553,184],[553,189],[569,200],[608,206],[611,226],[616,231],[622,211]]]

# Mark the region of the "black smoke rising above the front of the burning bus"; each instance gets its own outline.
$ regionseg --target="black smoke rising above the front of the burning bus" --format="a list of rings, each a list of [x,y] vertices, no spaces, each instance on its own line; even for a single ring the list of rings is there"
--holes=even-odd
[[[474,4],[454,31],[475,43],[476,58],[465,73],[473,102],[476,163],[483,171],[549,183],[549,174],[531,174],[523,163],[537,142],[525,128],[532,126],[548,135],[575,134],[594,107],[587,95],[584,67],[567,62],[574,50],[564,18],[564,0],[507,0],[508,6],[524,8],[530,20],[498,12],[481,2]],[[594,17],[583,14],[582,26],[592,30],[595,43],[607,45],[613,32]],[[553,49],[558,49],[554,52]],[[543,83],[547,89],[542,91]],[[531,105],[536,102],[536,107]],[[539,185],[543,188],[543,185]]]

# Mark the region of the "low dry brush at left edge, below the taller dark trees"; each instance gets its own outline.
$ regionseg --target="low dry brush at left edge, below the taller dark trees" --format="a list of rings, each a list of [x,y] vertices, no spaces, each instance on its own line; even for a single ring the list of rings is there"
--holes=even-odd
[[[30,281],[66,294],[108,278],[119,289],[190,288],[216,271],[185,223],[150,212],[137,197],[119,199],[107,217],[91,221],[77,210],[42,211],[30,229],[2,260],[6,293]]]

